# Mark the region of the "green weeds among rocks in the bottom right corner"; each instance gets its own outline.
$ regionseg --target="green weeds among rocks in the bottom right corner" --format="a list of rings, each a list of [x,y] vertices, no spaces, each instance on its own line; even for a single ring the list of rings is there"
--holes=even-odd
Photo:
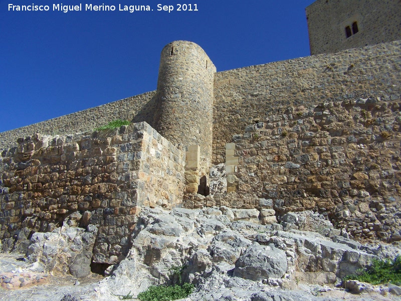
[[[371,284],[392,283],[401,284],[401,256],[393,260],[373,259],[372,265],[366,270],[356,270],[355,274],[348,275],[343,280],[359,280]]]

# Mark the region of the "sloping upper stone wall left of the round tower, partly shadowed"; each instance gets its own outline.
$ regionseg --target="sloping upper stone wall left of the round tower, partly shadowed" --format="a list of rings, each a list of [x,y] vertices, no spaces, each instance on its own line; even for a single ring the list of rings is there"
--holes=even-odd
[[[132,122],[146,121],[152,125],[153,113],[155,111],[154,94],[155,91],[147,92],[2,132],[0,133],[0,149],[17,146],[16,141],[19,137],[30,136],[34,133],[62,135],[92,131],[93,128],[105,125],[114,119],[129,120]]]

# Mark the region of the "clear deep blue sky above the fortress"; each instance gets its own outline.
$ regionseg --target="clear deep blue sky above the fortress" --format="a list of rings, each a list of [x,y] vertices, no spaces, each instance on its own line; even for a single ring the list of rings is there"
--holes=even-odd
[[[0,0],[0,132],[155,90],[160,51],[174,40],[197,43],[218,71],[308,56],[305,8],[313,2]],[[32,3],[50,11],[9,11]],[[82,3],[82,11],[53,11],[61,3]],[[86,3],[116,10],[85,11]],[[177,12],[177,3],[198,11]]]

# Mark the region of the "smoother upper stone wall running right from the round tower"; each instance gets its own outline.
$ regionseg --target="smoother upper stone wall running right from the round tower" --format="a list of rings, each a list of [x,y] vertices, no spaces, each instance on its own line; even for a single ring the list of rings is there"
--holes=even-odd
[[[225,144],[234,134],[289,106],[399,100],[400,66],[401,43],[392,42],[216,73],[213,163],[225,162]]]

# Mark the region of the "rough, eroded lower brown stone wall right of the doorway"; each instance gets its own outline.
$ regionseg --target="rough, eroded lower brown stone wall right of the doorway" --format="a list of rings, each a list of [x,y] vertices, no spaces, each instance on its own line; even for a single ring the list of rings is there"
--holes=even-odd
[[[400,125],[399,98],[288,107],[233,136],[238,172],[216,205],[313,210],[354,237],[400,240]]]

